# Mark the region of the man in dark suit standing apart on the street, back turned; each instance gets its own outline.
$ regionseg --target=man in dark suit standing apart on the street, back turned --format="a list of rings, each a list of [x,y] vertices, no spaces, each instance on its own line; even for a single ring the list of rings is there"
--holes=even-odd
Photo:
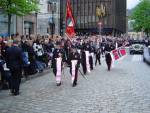
[[[22,50],[18,45],[19,41],[14,40],[13,45],[6,49],[6,63],[12,74],[11,93],[13,95],[19,95],[19,86],[22,74]]]

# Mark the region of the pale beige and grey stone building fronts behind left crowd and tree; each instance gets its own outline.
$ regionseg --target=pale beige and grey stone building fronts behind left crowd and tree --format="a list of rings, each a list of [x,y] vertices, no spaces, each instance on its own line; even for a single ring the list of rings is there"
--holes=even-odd
[[[51,12],[48,12],[48,1],[56,3],[56,11],[52,15]],[[47,34],[50,33],[49,20],[54,18],[55,23],[55,34],[59,34],[59,23],[60,23],[60,0],[39,0],[40,11],[24,16],[12,18],[12,28],[11,34],[18,32],[20,35],[28,34]],[[8,22],[7,16],[2,15],[3,12],[0,11],[0,33],[7,33]],[[30,31],[30,32],[29,32]]]

